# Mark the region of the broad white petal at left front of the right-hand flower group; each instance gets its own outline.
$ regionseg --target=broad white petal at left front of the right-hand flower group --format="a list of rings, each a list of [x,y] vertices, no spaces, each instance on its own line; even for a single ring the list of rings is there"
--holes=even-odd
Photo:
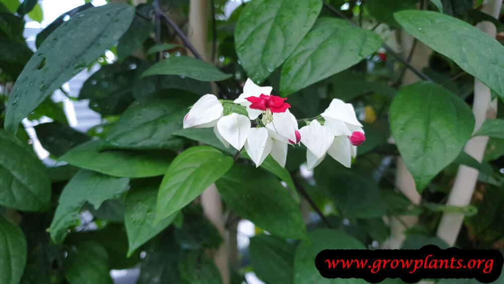
[[[327,149],[333,144],[333,131],[320,125],[317,120],[313,120],[310,125],[302,127],[299,133],[301,134],[301,143],[318,158],[323,157]]]

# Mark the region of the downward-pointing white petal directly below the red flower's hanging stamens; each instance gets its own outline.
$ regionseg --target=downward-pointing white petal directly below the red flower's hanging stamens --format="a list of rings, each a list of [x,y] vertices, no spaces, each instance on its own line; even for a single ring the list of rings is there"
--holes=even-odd
[[[262,128],[250,128],[248,131],[245,150],[248,156],[254,161],[256,167],[263,163],[268,156],[273,145],[272,139],[268,136],[268,130]]]

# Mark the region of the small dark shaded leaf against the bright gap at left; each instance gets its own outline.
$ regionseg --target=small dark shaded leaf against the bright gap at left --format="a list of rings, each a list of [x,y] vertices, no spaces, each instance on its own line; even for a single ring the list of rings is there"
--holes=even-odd
[[[57,157],[89,140],[86,134],[57,122],[42,123],[34,128],[42,147]]]

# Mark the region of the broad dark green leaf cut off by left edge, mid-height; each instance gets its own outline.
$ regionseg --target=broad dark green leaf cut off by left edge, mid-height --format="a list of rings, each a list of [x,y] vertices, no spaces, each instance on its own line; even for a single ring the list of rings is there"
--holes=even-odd
[[[44,211],[51,184],[33,149],[0,130],[0,205],[23,211]]]

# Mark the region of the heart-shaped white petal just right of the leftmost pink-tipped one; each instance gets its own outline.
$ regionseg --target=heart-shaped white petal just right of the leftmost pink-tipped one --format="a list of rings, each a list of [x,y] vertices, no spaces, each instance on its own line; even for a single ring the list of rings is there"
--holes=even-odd
[[[247,139],[250,120],[243,115],[231,113],[217,122],[217,130],[224,140],[236,150],[240,150]]]

